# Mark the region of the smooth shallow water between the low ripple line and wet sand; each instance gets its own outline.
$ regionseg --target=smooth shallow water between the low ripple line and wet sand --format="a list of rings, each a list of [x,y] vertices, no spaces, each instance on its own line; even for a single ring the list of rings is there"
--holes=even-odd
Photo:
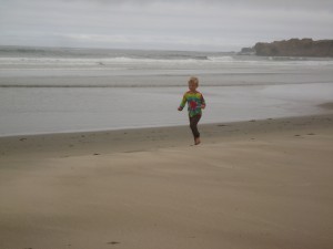
[[[209,100],[204,123],[276,118],[331,113],[333,84],[232,86],[203,89]],[[0,91],[0,136],[122,129],[186,125],[185,113],[176,112],[183,90],[169,89],[71,89]],[[80,96],[80,97],[77,97]],[[114,96],[112,100],[110,96]],[[142,102],[141,98],[147,101]],[[123,100],[138,102],[123,104]],[[163,100],[163,101],[161,101]],[[260,100],[260,101],[258,101]],[[148,102],[160,103],[159,106]]]

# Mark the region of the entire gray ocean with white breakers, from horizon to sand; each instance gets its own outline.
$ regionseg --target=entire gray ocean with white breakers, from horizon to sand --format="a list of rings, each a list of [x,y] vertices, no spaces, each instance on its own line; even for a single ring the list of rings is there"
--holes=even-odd
[[[235,52],[0,46],[0,136],[188,124],[178,112],[200,80],[201,123],[330,112],[333,59]]]

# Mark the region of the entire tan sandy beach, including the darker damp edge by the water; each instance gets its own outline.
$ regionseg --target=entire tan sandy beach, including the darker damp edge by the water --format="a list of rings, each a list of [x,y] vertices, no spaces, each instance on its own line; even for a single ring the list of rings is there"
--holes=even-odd
[[[333,248],[333,115],[200,129],[0,138],[0,248]]]

